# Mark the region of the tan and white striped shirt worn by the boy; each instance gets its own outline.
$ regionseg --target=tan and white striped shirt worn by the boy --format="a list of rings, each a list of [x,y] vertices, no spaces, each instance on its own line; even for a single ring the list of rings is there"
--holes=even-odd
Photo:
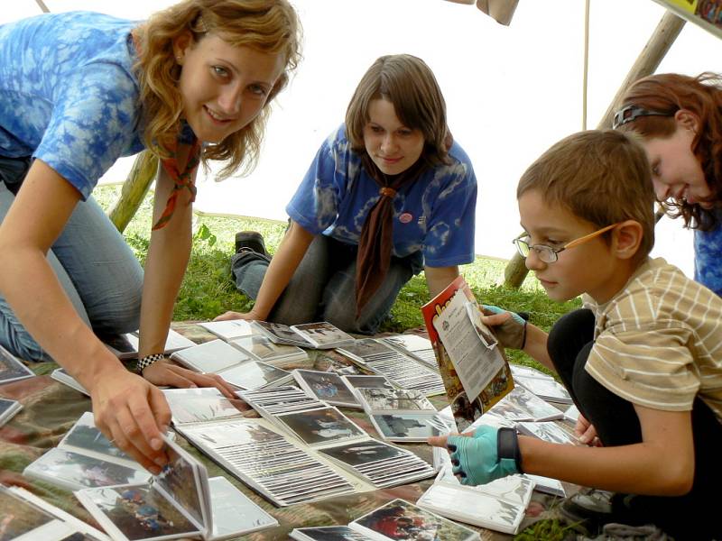
[[[595,380],[667,411],[690,410],[699,394],[722,422],[722,298],[659,258],[605,304],[586,304],[596,316],[587,362]]]

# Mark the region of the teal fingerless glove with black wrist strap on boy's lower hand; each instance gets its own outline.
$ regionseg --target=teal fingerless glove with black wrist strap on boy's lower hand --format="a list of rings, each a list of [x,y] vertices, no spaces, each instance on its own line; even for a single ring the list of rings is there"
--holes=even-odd
[[[514,428],[479,426],[473,437],[449,436],[452,472],[464,485],[480,485],[522,472]]]

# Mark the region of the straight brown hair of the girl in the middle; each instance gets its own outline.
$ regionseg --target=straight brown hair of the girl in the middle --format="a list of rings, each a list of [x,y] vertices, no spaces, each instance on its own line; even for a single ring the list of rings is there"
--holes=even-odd
[[[423,133],[421,157],[430,166],[447,163],[451,146],[446,124],[446,102],[426,62],[410,54],[380,57],[358,83],[346,111],[346,133],[351,148],[365,153],[364,126],[375,99],[393,104],[396,116],[412,130]]]

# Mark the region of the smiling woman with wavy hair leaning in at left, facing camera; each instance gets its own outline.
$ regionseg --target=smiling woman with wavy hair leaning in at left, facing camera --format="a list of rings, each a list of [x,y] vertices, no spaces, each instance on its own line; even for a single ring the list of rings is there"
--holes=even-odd
[[[183,0],[142,23],[73,12],[0,26],[0,344],[69,371],[97,426],[152,472],[170,422],[155,385],[231,396],[162,355],[199,162],[225,161],[226,176],[254,164],[299,47],[287,0]],[[143,274],[91,193],[144,148],[162,165]],[[138,328],[134,374],[98,336]]]

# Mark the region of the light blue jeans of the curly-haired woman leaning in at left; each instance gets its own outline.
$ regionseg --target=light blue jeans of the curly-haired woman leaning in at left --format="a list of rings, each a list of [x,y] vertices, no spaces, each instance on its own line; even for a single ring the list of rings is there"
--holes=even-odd
[[[0,157],[0,179],[10,186],[17,186],[26,172],[18,170],[17,161]],[[13,201],[13,193],[0,181],[0,223]],[[4,264],[10,259],[3,254]],[[143,269],[123,235],[93,197],[75,207],[48,252],[48,262],[80,318],[97,335],[117,335],[138,329]],[[27,361],[51,360],[15,317],[2,295],[0,344]]]

